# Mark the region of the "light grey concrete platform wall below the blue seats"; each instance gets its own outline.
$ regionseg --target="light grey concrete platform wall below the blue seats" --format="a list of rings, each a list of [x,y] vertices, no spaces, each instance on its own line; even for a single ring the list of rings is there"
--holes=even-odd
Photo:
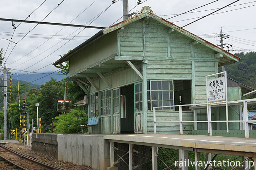
[[[110,166],[110,145],[104,135],[58,134],[58,159],[97,170]]]

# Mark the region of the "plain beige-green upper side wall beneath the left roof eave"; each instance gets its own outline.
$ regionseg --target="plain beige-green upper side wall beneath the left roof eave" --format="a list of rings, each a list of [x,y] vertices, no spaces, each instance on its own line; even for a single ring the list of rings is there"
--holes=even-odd
[[[114,57],[117,53],[117,31],[97,39],[69,59],[69,77],[84,71],[89,66]]]

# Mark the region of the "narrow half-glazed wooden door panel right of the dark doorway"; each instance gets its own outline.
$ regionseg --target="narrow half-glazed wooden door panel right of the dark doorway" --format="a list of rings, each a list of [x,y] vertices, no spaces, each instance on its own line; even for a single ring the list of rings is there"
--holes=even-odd
[[[142,82],[134,84],[134,133],[143,133]]]

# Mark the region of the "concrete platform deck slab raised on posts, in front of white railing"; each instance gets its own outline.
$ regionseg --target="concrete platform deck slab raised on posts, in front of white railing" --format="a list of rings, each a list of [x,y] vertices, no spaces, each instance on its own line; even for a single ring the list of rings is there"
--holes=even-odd
[[[219,153],[254,157],[256,140],[249,138],[172,135],[172,134],[127,134],[105,135],[110,142],[131,143],[165,148],[194,150],[204,153]]]

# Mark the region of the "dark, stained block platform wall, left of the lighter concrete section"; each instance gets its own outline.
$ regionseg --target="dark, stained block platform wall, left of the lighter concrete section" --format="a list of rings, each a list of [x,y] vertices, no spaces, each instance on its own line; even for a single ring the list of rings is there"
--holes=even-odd
[[[58,134],[32,134],[32,151],[53,156],[58,159]]]

